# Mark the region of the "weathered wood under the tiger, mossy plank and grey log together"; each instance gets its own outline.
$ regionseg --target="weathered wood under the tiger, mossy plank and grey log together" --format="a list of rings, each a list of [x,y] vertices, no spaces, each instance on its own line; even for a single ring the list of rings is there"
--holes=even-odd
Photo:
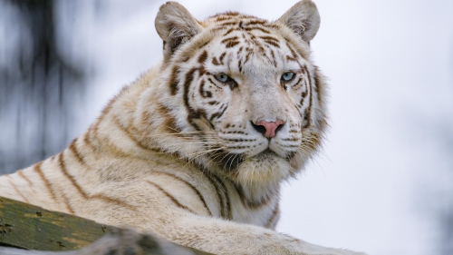
[[[106,233],[109,234],[105,235]],[[122,254],[117,251],[130,249],[141,250],[140,254],[169,255],[175,254],[175,250],[178,250],[178,254],[209,254],[133,230],[121,230],[63,212],[47,211],[31,204],[0,197],[0,255],[60,254],[33,250],[68,250],[61,251],[62,255],[99,254],[101,250],[104,251],[101,254]]]

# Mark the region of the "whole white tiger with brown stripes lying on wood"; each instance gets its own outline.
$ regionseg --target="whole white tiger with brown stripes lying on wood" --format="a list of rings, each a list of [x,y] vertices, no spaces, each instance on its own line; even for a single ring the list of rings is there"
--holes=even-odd
[[[316,5],[198,21],[169,2],[155,25],[162,62],[63,152],[0,177],[0,196],[216,254],[363,254],[275,231],[280,184],[327,126]]]

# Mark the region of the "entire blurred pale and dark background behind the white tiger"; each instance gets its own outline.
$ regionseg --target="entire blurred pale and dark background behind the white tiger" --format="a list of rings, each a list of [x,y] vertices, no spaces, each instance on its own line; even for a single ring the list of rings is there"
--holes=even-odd
[[[0,0],[0,173],[63,150],[161,59],[150,0]],[[295,0],[179,1],[275,20]],[[369,254],[453,254],[453,1],[317,0],[323,152],[277,230]]]

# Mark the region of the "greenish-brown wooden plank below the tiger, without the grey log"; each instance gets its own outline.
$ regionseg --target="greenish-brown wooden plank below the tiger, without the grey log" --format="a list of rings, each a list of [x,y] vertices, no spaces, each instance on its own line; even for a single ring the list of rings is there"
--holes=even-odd
[[[27,250],[75,250],[114,227],[0,197],[0,243]]]

